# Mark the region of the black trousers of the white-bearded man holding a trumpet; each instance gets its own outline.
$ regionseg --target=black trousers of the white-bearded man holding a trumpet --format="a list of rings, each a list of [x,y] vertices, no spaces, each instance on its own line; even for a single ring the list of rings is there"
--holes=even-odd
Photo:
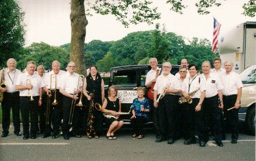
[[[163,137],[175,137],[175,111],[176,96],[165,95],[158,103],[158,118],[161,135]]]

